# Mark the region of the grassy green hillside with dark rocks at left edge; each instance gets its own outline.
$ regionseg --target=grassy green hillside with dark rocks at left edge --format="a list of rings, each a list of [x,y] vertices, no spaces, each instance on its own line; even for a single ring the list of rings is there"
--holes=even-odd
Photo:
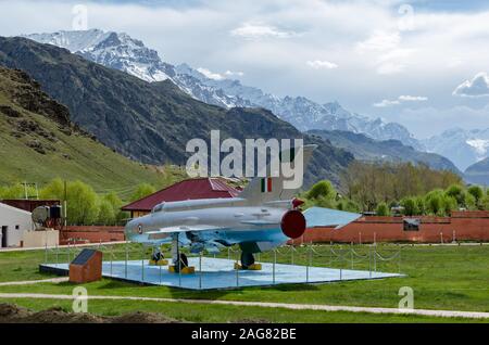
[[[159,187],[183,177],[177,168],[164,171],[114,153],[68,116],[25,73],[0,67],[0,184],[61,177],[124,197],[141,182]]]

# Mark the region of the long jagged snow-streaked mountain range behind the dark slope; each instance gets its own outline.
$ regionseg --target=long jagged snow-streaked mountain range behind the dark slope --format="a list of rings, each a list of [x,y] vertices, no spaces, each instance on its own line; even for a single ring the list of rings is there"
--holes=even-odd
[[[174,66],[127,34],[91,29],[25,37],[68,49],[87,60],[150,82],[170,79],[183,91],[209,104],[267,108],[302,131],[347,130],[377,140],[397,139],[415,149],[423,148],[402,125],[350,113],[337,102],[318,104],[304,97],[278,98],[259,88],[243,86],[239,80],[212,78],[187,64]]]

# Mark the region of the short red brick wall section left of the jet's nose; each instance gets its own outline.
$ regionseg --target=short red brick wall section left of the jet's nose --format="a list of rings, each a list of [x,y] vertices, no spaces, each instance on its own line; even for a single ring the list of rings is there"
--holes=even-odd
[[[125,235],[123,227],[70,226],[65,230],[60,231],[60,244],[66,244],[68,240],[73,243],[73,239],[76,239],[77,243],[98,243],[125,241]]]

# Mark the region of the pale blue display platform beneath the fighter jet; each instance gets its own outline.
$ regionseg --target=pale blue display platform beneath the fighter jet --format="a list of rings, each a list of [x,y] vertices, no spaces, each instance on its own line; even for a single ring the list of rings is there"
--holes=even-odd
[[[398,273],[334,269],[298,265],[275,265],[261,263],[262,270],[246,271],[234,269],[235,260],[202,257],[202,272],[199,272],[199,258],[190,257],[189,266],[196,267],[193,274],[170,273],[167,266],[149,266],[148,260],[103,263],[102,274],[134,283],[164,285],[190,290],[236,289],[242,286],[269,286],[274,284],[327,283],[337,281],[368,280],[404,277]],[[40,265],[41,271],[66,276],[68,264]],[[275,276],[275,279],[274,279]]]

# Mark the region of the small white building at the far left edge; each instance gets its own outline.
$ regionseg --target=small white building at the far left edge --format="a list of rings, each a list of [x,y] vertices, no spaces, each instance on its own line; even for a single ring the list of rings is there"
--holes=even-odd
[[[0,247],[21,246],[24,233],[34,230],[29,212],[0,203]]]

